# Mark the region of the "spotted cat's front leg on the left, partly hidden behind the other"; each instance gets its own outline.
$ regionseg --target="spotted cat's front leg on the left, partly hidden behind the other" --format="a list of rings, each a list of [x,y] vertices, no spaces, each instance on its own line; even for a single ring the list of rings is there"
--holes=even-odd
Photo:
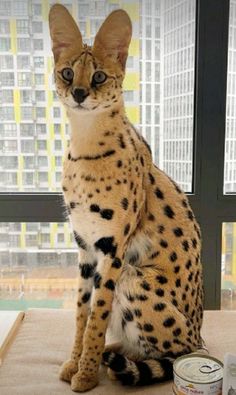
[[[83,335],[88,318],[88,306],[91,299],[96,264],[94,257],[80,248],[76,333],[71,358],[65,361],[60,369],[59,376],[64,381],[71,382],[72,376],[78,371],[78,363],[83,351]]]

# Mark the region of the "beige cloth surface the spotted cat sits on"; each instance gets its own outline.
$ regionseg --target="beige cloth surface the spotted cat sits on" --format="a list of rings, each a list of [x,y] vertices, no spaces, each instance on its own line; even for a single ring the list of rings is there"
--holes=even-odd
[[[72,311],[28,311],[0,367],[0,394],[74,394],[68,383],[58,379],[59,366],[70,355],[73,335]],[[205,312],[202,335],[212,356],[223,360],[228,351],[236,354],[236,312]],[[143,388],[123,387],[117,382],[111,382],[102,368],[99,386],[87,393],[171,395],[171,388],[171,382]]]

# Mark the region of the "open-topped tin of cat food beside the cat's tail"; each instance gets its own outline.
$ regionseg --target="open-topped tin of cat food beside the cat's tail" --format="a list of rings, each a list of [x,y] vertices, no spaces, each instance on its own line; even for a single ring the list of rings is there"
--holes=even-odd
[[[222,395],[223,364],[198,353],[174,362],[174,395]]]

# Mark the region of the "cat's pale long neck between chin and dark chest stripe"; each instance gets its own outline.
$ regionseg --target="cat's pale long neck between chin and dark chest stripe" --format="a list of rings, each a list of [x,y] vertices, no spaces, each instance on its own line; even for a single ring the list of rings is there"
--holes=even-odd
[[[94,114],[90,111],[70,112],[68,119],[71,128],[70,152],[73,157],[77,157],[108,150],[112,139],[107,137],[119,134],[127,118],[123,103],[117,103],[105,111],[94,111]]]

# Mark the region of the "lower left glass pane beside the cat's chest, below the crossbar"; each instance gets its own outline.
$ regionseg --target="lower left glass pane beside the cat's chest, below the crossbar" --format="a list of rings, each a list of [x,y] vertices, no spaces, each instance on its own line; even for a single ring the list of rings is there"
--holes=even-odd
[[[68,223],[0,223],[0,310],[74,308],[77,267]]]

